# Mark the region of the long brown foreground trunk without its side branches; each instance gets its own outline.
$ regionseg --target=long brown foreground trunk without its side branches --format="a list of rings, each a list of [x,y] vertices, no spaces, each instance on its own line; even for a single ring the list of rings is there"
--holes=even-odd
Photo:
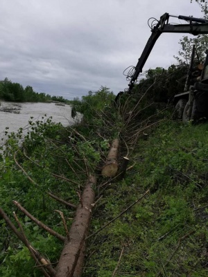
[[[60,260],[56,267],[55,277],[79,277],[82,274],[85,237],[92,214],[92,204],[94,203],[94,190],[96,178],[89,177],[89,181],[83,190],[82,204],[78,205],[75,219],[69,231],[69,239],[64,245]]]

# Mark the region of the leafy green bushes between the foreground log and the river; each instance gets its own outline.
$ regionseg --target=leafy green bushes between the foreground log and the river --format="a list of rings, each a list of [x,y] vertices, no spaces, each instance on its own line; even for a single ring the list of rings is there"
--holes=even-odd
[[[62,127],[46,116],[35,122],[31,118],[28,126],[17,133],[9,133],[6,129],[4,139],[7,142],[0,156],[0,206],[11,220],[15,210],[12,200],[15,200],[38,220],[65,235],[60,216],[54,210],[70,218],[75,211],[58,204],[48,193],[78,204],[77,193],[82,190],[89,172],[98,165],[99,150],[105,152],[108,145],[107,141],[90,135],[90,128],[84,127],[83,132],[81,129],[80,125]],[[17,213],[17,216],[28,241],[55,265],[62,243],[24,214]],[[12,221],[15,224],[15,220]],[[2,219],[0,224],[0,276],[42,276],[38,268],[33,268],[35,264],[24,244]],[[67,220],[67,225],[70,228],[71,220]]]

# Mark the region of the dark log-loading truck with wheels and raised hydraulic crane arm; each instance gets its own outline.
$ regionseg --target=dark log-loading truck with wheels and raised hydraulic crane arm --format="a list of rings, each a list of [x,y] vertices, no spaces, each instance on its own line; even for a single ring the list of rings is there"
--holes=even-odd
[[[168,21],[170,17],[177,17],[187,23],[177,25],[169,24]],[[144,64],[146,63],[155,42],[162,33],[189,33],[192,35],[208,34],[208,20],[206,19],[187,17],[183,15],[174,16],[165,13],[160,17],[159,21],[156,19],[154,19],[154,21],[157,23],[150,26],[152,34],[144,47],[144,51],[141,53],[137,65],[132,66],[132,69],[129,71],[130,73],[128,73],[128,80],[130,80],[128,89],[120,91],[115,98],[115,102],[118,102],[123,93],[132,93],[132,89],[135,87],[135,82],[137,82],[139,73],[142,72]],[[206,54],[208,54],[208,50],[206,51]],[[193,66],[195,55],[196,47],[193,46],[184,92],[175,94],[173,100],[177,118],[182,119],[184,122],[198,120],[203,117],[208,118],[208,55],[205,58],[204,64],[197,66],[197,69]]]

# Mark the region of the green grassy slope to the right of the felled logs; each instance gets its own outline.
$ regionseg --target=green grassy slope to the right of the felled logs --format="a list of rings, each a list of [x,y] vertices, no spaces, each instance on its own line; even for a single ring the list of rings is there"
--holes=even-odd
[[[208,124],[168,121],[139,140],[135,166],[112,183],[91,232],[150,194],[89,242],[83,276],[208,276]]]

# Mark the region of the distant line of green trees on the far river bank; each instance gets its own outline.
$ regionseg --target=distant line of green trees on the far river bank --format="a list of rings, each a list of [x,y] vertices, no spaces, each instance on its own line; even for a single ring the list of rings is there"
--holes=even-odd
[[[12,102],[67,102],[62,96],[50,96],[46,93],[37,93],[33,87],[22,87],[17,82],[12,82],[5,78],[0,81],[0,99]]]

